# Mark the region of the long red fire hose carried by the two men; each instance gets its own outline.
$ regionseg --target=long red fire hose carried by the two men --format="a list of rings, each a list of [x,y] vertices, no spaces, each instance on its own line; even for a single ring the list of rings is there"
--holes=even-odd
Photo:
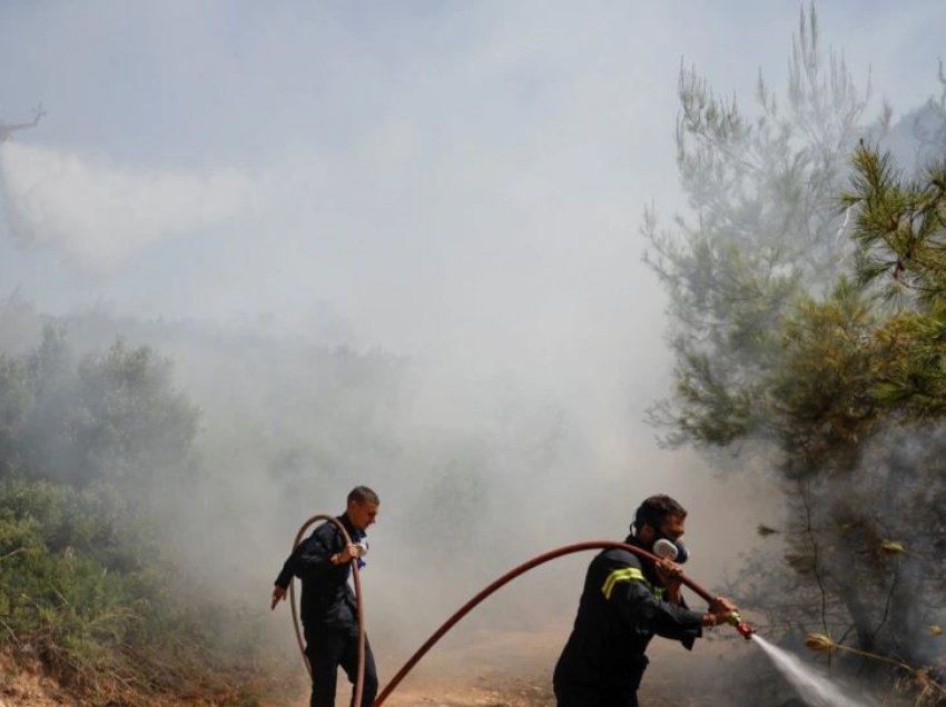
[[[309,519],[306,522],[306,525],[303,526],[303,528],[299,529],[299,535],[296,538],[296,545],[298,545],[298,541],[299,541],[298,538],[302,537],[302,534],[305,530],[305,528],[307,528],[308,525],[311,525],[313,521],[318,520],[318,519],[335,520],[334,518],[329,518],[328,516],[315,516],[314,518]],[[336,524],[337,524],[337,521],[336,521]],[[343,532],[344,532],[344,529],[343,529]],[[609,540],[589,540],[587,542],[577,542],[574,545],[566,545],[566,546],[560,547],[555,550],[551,550],[549,552],[544,552],[543,555],[539,555],[536,557],[533,557],[528,562],[523,562],[519,567],[511,569],[505,575],[503,575],[502,577],[500,577],[499,579],[493,581],[491,585],[485,587],[476,596],[474,596],[466,604],[464,604],[462,607],[460,607],[446,621],[444,621],[443,625],[436,631],[434,631],[433,635],[426,641],[424,641],[424,645],[421,646],[416,650],[416,653],[414,653],[413,656],[411,656],[411,658],[407,660],[407,663],[404,664],[404,666],[395,674],[395,676],[393,678],[391,678],[391,681],[384,687],[384,689],[381,691],[381,694],[375,699],[373,707],[381,707],[381,705],[384,704],[384,700],[387,699],[391,696],[391,693],[394,691],[394,689],[397,687],[397,685],[400,685],[401,680],[403,680],[406,677],[406,675],[417,664],[417,661],[421,658],[424,657],[424,655],[427,653],[427,650],[430,650],[434,646],[434,644],[436,644],[441,638],[443,638],[444,634],[446,634],[451,628],[453,628],[460,621],[460,619],[462,619],[464,616],[466,616],[471,610],[473,610],[474,607],[476,607],[481,601],[483,601],[483,599],[489,597],[496,589],[509,584],[510,581],[512,581],[513,579],[515,579],[520,575],[525,574],[526,571],[532,569],[533,567],[538,567],[539,565],[548,562],[549,560],[553,560],[558,557],[562,557],[563,555],[571,555],[573,552],[581,552],[581,551],[584,551],[584,550],[610,549],[610,548],[619,548],[619,549],[622,549],[622,550],[627,550],[629,552],[633,552],[634,555],[637,555],[637,556],[639,556],[643,559],[647,559],[651,562],[657,562],[657,561],[660,560],[660,558],[658,558],[656,555],[652,555],[651,552],[648,552],[647,550],[643,550],[643,549],[641,549],[637,546],[628,545],[627,542],[613,542],[613,541],[609,541]],[[354,576],[355,576],[355,590],[356,590],[357,599],[358,599],[358,680],[357,680],[357,684],[355,686],[355,700],[353,701],[353,704],[359,705],[361,704],[361,701],[359,701],[361,695],[362,695],[362,683],[363,683],[363,678],[364,678],[364,675],[363,675],[364,670],[363,670],[363,667],[362,667],[363,664],[364,664],[364,615],[363,615],[363,611],[362,611],[362,594],[361,594],[361,584],[359,584],[359,580],[358,580],[357,569],[355,569]],[[712,604],[716,600],[716,597],[710,591],[708,591],[707,589],[704,589],[703,587],[698,585],[696,581],[693,581],[689,577],[687,577],[684,575],[680,575],[679,579],[683,585],[689,587],[693,593],[699,595],[708,604]],[[741,621],[738,616],[733,616],[732,619],[733,620],[731,623],[736,626],[736,629],[745,638],[748,639],[755,630],[752,625],[748,624],[746,621]],[[293,620],[295,623],[296,637],[299,640],[299,648],[303,649],[303,655],[305,655],[304,647],[303,647],[303,644],[302,644],[300,634],[299,634],[298,621],[296,620],[295,601],[293,601]],[[306,666],[308,666],[307,660],[306,660]]]

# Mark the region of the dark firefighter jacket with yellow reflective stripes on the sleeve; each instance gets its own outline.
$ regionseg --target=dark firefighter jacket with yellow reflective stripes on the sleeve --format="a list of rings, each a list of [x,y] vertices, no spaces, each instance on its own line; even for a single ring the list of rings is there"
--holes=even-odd
[[[624,542],[640,545],[629,536]],[[555,666],[556,688],[637,689],[654,635],[692,648],[702,614],[663,601],[651,562],[620,548],[599,554],[588,568],[574,628]]]

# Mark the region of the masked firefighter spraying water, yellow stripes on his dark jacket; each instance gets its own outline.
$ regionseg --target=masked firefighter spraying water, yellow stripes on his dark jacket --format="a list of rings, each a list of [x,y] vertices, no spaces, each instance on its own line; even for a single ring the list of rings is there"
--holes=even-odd
[[[651,496],[634,515],[624,540],[653,552],[658,540],[672,544],[684,558],[680,537],[687,511],[669,496]],[[704,627],[725,624],[736,606],[717,597],[707,613],[683,604],[680,566],[657,565],[611,548],[588,568],[574,628],[555,666],[559,707],[637,707],[638,687],[654,635],[679,640],[689,650]]]

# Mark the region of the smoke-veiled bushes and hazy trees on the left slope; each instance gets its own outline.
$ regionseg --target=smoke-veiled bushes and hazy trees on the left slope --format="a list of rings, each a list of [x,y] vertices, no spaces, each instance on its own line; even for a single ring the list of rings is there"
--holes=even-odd
[[[162,551],[151,498],[194,472],[198,410],[168,361],[0,352],[0,641],[95,704],[255,704],[258,627]]]

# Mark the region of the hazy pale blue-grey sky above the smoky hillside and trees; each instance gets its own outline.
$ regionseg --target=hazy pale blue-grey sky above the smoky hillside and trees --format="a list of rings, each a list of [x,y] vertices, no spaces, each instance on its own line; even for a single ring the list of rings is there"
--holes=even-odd
[[[615,475],[693,466],[642,421],[672,360],[639,227],[684,209],[681,64],[751,110],[802,7],[9,0],[0,120],[48,112],[0,145],[0,295],[381,347],[443,400],[566,406]],[[946,4],[817,11],[869,112],[938,98]]]

